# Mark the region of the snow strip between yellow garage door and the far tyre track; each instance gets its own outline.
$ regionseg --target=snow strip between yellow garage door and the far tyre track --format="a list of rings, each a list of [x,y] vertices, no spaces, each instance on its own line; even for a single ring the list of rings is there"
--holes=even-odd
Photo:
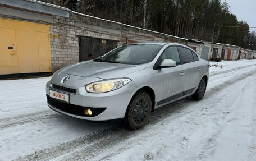
[[[50,79],[0,80],[0,118],[48,109],[44,93]]]

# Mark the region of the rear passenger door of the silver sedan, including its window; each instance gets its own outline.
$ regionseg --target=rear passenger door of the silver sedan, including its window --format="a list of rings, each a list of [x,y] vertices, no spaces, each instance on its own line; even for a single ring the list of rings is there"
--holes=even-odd
[[[202,66],[198,56],[192,50],[179,47],[179,51],[182,57],[182,63],[184,63],[183,66],[185,67],[184,93],[186,95],[193,92],[199,84]]]

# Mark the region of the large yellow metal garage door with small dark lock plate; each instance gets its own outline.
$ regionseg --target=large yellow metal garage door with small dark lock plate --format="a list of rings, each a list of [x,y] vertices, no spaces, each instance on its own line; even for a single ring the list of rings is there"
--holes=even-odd
[[[0,75],[51,72],[49,27],[0,19]]]

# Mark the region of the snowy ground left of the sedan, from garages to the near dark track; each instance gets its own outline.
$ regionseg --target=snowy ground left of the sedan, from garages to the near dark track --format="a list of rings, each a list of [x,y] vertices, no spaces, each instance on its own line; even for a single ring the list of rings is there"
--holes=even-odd
[[[49,109],[45,84],[50,79],[0,81],[0,160],[15,159],[109,126],[108,122],[63,117]]]

